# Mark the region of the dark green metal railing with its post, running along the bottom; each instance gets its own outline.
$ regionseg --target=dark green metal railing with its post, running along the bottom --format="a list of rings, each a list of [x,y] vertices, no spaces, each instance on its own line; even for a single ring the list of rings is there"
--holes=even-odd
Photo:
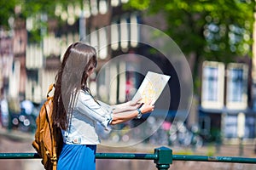
[[[1,159],[33,159],[40,158],[37,153],[0,153]],[[154,154],[135,153],[96,153],[96,159],[138,159],[153,160],[157,169],[169,169],[172,161],[218,161],[232,163],[252,163],[256,164],[256,158],[234,157],[234,156],[186,156],[172,155],[172,149],[160,147],[154,149]]]

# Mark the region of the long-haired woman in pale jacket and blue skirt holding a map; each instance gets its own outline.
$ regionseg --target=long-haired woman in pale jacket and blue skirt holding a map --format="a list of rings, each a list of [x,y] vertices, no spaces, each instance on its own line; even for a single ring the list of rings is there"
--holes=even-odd
[[[96,50],[83,42],[71,44],[55,77],[53,122],[61,127],[63,147],[59,170],[95,170],[96,122],[103,127],[127,122],[154,110],[154,105],[129,101],[105,107],[90,94],[88,77],[97,64]]]

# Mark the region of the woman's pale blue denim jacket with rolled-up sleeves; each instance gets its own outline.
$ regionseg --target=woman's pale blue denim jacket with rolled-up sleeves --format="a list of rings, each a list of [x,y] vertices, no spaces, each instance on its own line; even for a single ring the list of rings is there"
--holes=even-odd
[[[73,107],[73,116],[70,127],[62,130],[65,144],[99,144],[100,139],[96,133],[96,124],[99,122],[108,129],[112,121],[113,111],[110,105],[100,102],[100,105],[88,92],[79,90]]]

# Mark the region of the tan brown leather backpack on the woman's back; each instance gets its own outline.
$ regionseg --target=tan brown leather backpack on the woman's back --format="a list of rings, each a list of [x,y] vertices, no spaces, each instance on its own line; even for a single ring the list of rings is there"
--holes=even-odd
[[[57,167],[57,158],[61,153],[62,135],[61,129],[54,127],[51,119],[53,111],[53,96],[49,93],[54,88],[54,84],[49,86],[47,100],[41,107],[37,117],[37,130],[32,146],[37,150],[38,155],[42,157],[42,164],[47,170],[55,170]]]

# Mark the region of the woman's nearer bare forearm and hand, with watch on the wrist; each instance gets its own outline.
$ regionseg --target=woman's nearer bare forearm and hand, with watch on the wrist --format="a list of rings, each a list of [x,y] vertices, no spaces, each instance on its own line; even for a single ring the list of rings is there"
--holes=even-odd
[[[154,111],[154,105],[151,104],[144,104],[141,108],[140,111],[142,114]],[[130,121],[131,119],[137,117],[138,115],[137,108],[131,111],[121,111],[121,112],[115,112],[113,111],[113,118],[112,122],[110,122],[111,125],[119,124],[122,122],[127,122]]]

